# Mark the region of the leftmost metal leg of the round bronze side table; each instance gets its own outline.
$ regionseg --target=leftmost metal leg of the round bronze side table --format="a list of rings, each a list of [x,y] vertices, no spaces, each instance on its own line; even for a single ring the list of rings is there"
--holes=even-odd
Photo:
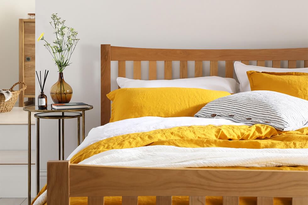
[[[28,204],[31,204],[31,112],[28,112]]]

